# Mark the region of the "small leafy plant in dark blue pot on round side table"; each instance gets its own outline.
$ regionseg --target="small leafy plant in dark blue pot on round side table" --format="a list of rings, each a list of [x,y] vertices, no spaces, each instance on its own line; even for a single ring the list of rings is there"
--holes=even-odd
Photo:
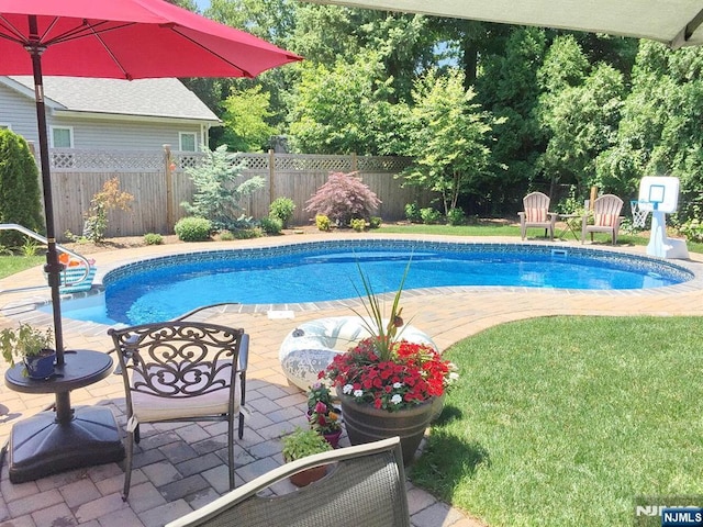
[[[52,328],[45,330],[20,323],[16,329],[5,328],[0,332],[0,349],[2,357],[11,366],[14,358],[24,362],[24,374],[32,379],[46,379],[54,373],[56,350],[53,349]]]

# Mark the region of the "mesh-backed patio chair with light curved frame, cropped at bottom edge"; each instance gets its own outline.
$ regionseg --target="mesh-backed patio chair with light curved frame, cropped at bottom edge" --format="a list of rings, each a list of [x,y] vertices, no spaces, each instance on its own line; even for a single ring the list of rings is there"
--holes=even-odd
[[[339,448],[286,463],[166,527],[410,527],[400,439]],[[283,495],[260,495],[276,482],[313,467],[327,474]]]

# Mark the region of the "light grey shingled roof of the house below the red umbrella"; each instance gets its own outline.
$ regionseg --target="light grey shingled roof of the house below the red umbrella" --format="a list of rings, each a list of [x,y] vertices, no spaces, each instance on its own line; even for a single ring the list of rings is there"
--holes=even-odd
[[[7,77],[34,97],[30,76]],[[44,96],[66,111],[219,122],[217,116],[178,79],[97,79],[44,77]]]

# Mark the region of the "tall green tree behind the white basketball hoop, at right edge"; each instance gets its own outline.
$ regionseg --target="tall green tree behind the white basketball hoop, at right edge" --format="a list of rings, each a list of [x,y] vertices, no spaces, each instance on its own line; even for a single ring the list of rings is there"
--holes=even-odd
[[[703,49],[671,52],[640,41],[617,143],[599,158],[605,184],[636,195],[643,176],[676,176],[681,217],[701,213],[695,206],[703,195],[702,74]]]

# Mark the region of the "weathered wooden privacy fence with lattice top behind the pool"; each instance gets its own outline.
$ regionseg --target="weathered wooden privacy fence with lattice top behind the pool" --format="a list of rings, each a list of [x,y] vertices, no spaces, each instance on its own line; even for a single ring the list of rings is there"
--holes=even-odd
[[[107,236],[140,236],[146,233],[171,234],[178,220],[186,216],[180,203],[191,202],[193,184],[186,169],[200,162],[202,154],[172,152],[79,150],[53,148],[52,191],[57,237],[65,240],[66,231],[82,232],[82,215],[90,200],[105,181],[118,178],[120,189],[134,197],[131,211],[109,213]],[[305,212],[305,202],[324,184],[330,172],[358,171],[361,180],[382,201],[375,215],[384,221],[405,217],[405,204],[427,206],[432,194],[415,187],[402,187],[397,175],[409,166],[403,157],[326,156],[278,154],[237,154],[246,178],[261,176],[265,187],[244,199],[239,205],[247,216],[268,215],[269,204],[286,197],[295,203],[291,224],[314,221]]]

